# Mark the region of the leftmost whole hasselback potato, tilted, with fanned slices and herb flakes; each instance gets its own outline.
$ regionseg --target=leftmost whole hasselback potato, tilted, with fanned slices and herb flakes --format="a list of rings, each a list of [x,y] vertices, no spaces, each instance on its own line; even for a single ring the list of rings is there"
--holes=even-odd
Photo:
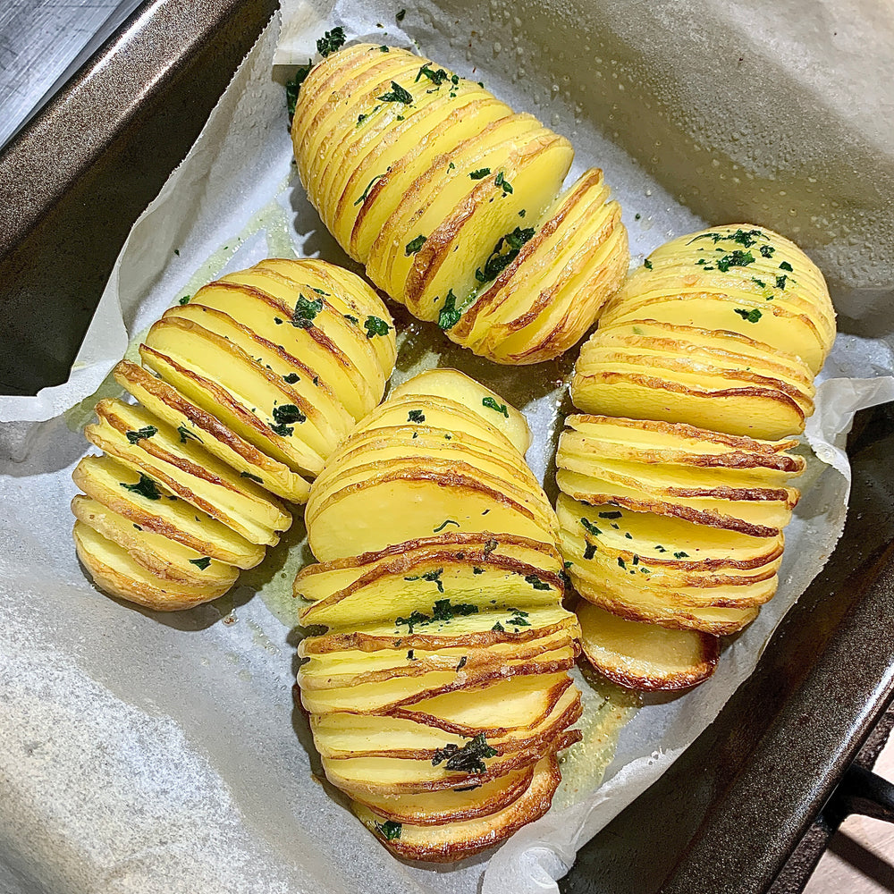
[[[291,525],[326,457],[382,399],[391,316],[323,261],[262,261],[175,305],[114,376],[73,477],[80,561],[161,611],[223,595]]]

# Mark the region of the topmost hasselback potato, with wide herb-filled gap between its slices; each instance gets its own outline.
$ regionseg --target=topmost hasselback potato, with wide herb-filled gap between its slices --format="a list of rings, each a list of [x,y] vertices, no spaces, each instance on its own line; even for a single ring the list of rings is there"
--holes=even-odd
[[[562,191],[567,139],[406,50],[328,55],[291,135],[308,198],[373,283],[498,363],[568,350],[627,272],[602,171]]]

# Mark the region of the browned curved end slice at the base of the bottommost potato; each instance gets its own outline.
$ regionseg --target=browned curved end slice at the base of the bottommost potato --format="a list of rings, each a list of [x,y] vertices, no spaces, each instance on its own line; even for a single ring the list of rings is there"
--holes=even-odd
[[[543,816],[549,810],[560,781],[555,759],[544,758],[536,764],[527,791],[509,806],[480,819],[450,822],[437,827],[404,824],[400,829],[395,829],[393,825],[385,826],[380,822],[381,817],[364,805],[355,803],[352,809],[367,829],[376,832],[396,856],[449,863],[492,848],[523,825]]]

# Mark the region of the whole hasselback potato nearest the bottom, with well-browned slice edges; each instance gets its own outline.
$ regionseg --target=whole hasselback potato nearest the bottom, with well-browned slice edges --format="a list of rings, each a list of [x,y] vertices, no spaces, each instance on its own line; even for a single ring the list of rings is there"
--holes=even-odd
[[[395,389],[311,487],[301,702],[327,778],[398,856],[544,814],[581,712],[552,507],[519,412],[456,370]]]

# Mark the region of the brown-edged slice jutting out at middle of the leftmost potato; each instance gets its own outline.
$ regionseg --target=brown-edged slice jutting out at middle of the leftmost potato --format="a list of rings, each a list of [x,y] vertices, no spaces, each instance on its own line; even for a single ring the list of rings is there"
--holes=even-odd
[[[284,463],[257,450],[216,417],[189,401],[173,385],[157,379],[130,360],[122,360],[114,368],[114,377],[150,413],[176,427],[181,441],[194,440],[202,444],[218,460],[238,471],[241,477],[257,481],[277,496],[291,502],[307,501],[310,485],[304,478]]]

